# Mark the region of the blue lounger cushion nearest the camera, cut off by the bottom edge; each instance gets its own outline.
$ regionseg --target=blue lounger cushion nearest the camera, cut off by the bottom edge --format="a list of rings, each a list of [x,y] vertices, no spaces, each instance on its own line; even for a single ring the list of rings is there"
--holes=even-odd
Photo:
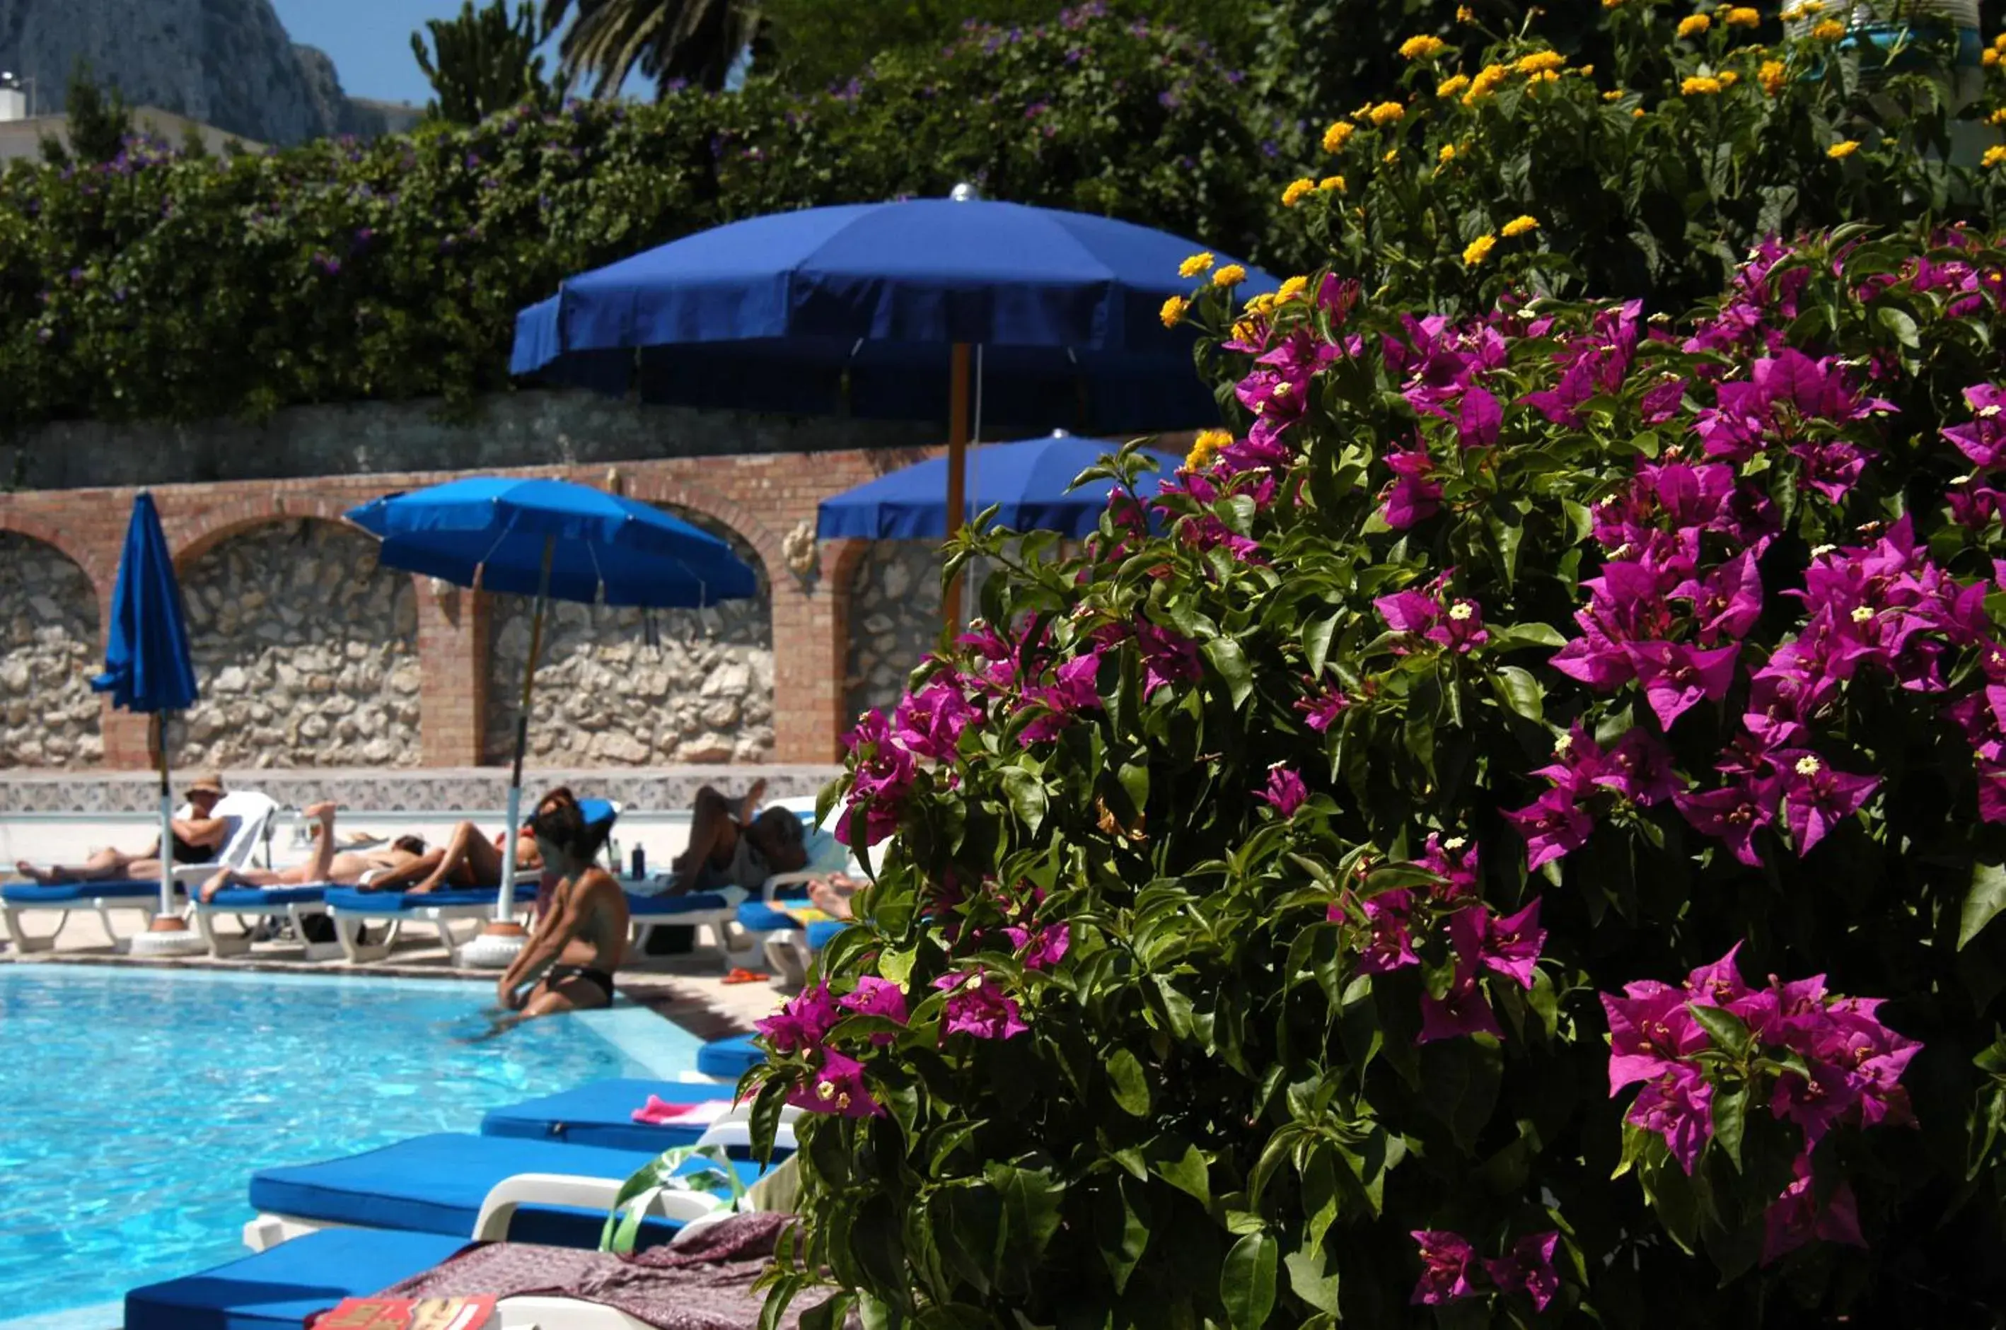
[[[471,1232],[471,1228],[469,1228]],[[126,1330],[299,1330],[307,1316],[429,1270],[465,1236],[323,1228],[269,1252],[126,1294]]]

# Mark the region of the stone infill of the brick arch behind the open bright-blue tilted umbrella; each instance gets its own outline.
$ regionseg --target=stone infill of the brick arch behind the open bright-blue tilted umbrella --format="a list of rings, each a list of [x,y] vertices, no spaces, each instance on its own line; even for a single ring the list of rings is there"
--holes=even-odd
[[[730,542],[760,572],[760,596],[646,614],[552,604],[530,704],[530,756],[540,766],[772,760],[772,592],[758,552],[718,522],[662,508]],[[532,608],[526,596],[493,600],[489,762],[514,754]]]

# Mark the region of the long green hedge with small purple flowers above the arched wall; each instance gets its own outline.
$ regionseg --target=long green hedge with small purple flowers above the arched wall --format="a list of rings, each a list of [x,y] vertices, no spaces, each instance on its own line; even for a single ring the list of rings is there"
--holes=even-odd
[[[0,177],[0,429],[205,419],[506,383],[568,273],[794,207],[945,195],[1264,253],[1280,173],[1238,80],[1165,28],[971,30],[818,96],[574,104],[221,160],[132,142]]]

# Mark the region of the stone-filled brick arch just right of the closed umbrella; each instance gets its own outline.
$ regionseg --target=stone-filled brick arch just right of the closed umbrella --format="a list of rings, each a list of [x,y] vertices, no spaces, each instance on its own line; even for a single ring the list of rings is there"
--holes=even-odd
[[[175,762],[415,766],[417,590],[331,522],[223,540],[181,570],[201,702]]]

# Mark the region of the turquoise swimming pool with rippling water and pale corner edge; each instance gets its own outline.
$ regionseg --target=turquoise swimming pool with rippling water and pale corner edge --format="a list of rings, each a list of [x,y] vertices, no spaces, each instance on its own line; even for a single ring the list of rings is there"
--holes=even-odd
[[[610,1075],[698,1039],[640,1009],[489,1043],[493,987],[0,965],[0,1326],[116,1326],[124,1290],[243,1256],[245,1188]]]

